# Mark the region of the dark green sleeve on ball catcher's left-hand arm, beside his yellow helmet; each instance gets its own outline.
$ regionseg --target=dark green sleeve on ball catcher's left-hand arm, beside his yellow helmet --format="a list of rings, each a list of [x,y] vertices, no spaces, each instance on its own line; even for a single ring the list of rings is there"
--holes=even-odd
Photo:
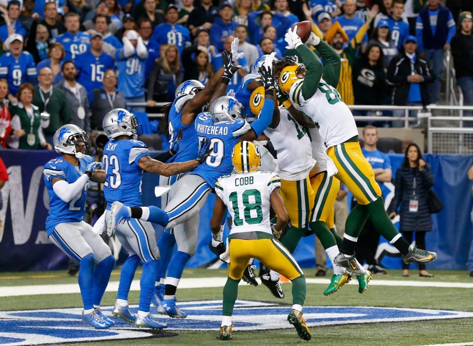
[[[305,100],[308,100],[317,91],[317,85],[320,82],[320,78],[322,78],[323,65],[317,55],[306,45],[301,44],[296,48],[296,51],[301,55],[302,61],[307,68],[302,85],[302,96]]]

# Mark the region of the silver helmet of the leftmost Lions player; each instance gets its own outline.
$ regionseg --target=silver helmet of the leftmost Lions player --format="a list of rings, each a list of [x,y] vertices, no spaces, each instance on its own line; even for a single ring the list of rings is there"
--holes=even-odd
[[[87,134],[77,125],[66,124],[56,130],[53,136],[54,149],[58,153],[75,155],[76,158],[84,157],[82,148],[78,147],[84,143],[84,149],[90,150],[90,141]]]

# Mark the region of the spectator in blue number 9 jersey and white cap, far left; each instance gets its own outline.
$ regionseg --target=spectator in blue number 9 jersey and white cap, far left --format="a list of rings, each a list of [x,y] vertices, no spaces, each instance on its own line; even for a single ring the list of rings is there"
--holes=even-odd
[[[5,42],[9,51],[0,57],[0,78],[8,80],[8,99],[16,103],[16,95],[20,85],[25,82],[36,84],[37,74],[33,56],[23,51],[23,36],[13,34]]]

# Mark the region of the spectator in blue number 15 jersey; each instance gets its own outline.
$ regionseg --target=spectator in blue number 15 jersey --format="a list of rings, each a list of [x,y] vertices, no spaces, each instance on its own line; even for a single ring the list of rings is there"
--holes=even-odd
[[[91,36],[90,50],[75,61],[77,81],[87,90],[89,104],[93,101],[92,91],[102,86],[105,70],[115,67],[115,61],[102,50],[102,45],[102,34],[96,32]]]

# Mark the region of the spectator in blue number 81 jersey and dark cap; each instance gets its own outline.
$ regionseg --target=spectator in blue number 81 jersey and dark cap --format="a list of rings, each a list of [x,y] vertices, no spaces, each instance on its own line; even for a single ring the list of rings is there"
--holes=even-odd
[[[166,23],[158,25],[153,30],[151,39],[159,45],[167,43],[177,47],[179,54],[186,45],[190,44],[191,34],[186,27],[177,24],[179,10],[174,4],[169,4],[165,12]]]

